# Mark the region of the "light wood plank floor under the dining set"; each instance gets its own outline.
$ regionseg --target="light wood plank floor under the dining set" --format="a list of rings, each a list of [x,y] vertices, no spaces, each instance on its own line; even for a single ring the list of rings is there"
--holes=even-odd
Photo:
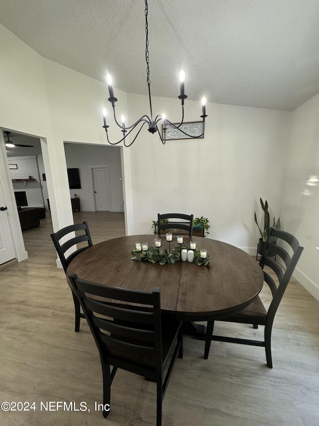
[[[74,213],[87,220],[93,243],[125,234],[123,213]],[[35,411],[0,411],[1,426],[154,425],[154,383],[119,370],[112,385],[111,413],[102,403],[102,375],[85,321],[74,333],[73,301],[49,234],[50,218],[23,232],[29,259],[0,271],[0,402],[35,401]],[[150,230],[151,232],[151,230]],[[269,292],[262,299],[269,302]],[[216,323],[238,337],[262,338],[263,328]],[[273,362],[263,348],[185,336],[163,401],[163,426],[318,426],[319,302],[293,280],[273,328]],[[86,402],[88,412],[40,411],[40,402]]]

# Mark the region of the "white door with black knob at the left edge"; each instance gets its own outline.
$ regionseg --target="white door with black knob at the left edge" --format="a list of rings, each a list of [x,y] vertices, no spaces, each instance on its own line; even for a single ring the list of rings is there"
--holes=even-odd
[[[0,265],[11,259],[15,259],[15,251],[10,231],[8,211],[5,206],[0,182]]]

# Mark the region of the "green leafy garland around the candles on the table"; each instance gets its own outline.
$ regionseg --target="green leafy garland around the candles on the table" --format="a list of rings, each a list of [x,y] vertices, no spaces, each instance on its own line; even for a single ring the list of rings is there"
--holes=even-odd
[[[159,262],[160,265],[165,265],[165,263],[174,264],[180,260],[180,253],[182,249],[190,250],[189,247],[181,246],[174,247],[170,253],[168,253],[167,249],[159,250],[159,247],[150,246],[148,251],[139,251],[137,249],[133,249],[131,260],[137,260],[138,262]],[[200,257],[200,250],[193,250],[194,252],[194,262],[196,265],[207,266],[209,268],[209,259],[212,257],[207,253],[207,257],[205,259]]]

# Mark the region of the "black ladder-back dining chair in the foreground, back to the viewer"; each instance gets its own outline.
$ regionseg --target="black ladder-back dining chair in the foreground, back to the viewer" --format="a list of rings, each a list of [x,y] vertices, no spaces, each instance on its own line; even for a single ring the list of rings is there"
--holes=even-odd
[[[177,355],[183,356],[182,323],[173,320],[169,327],[161,327],[159,288],[153,292],[135,291],[81,280],[76,274],[68,278],[99,350],[104,408],[110,407],[117,369],[130,371],[156,382],[156,424],[160,426],[169,378]],[[104,410],[103,416],[109,412]]]

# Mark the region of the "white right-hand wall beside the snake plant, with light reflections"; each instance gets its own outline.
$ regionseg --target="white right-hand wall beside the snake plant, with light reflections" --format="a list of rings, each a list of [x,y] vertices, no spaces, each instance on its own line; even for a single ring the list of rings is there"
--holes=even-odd
[[[319,300],[319,94],[297,108],[284,181],[282,224],[305,246],[295,276]],[[314,185],[309,185],[314,183]]]

